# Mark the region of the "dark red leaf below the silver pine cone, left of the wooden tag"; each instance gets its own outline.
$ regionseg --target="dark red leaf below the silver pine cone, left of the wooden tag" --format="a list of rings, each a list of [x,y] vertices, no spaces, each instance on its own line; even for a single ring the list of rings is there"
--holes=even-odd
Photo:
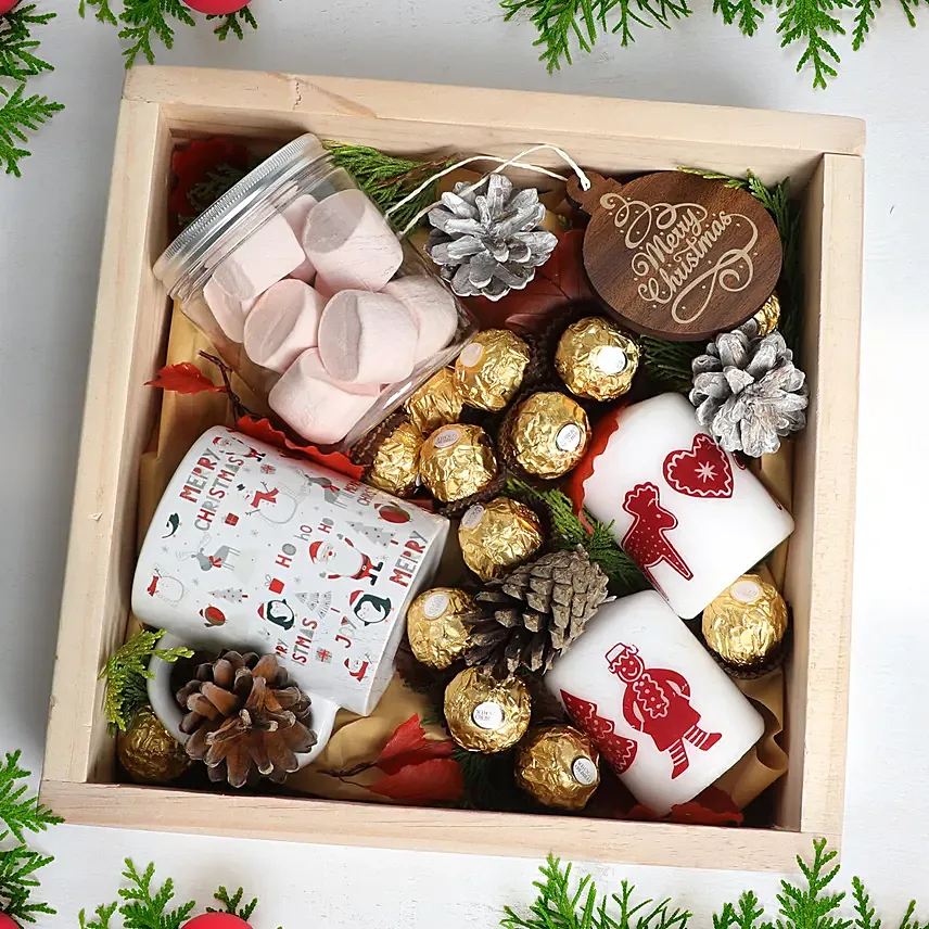
[[[565,232],[548,260],[521,291],[494,302],[467,301],[482,329],[511,329],[519,335],[543,332],[568,303],[590,300],[593,291],[584,270],[584,230]]]

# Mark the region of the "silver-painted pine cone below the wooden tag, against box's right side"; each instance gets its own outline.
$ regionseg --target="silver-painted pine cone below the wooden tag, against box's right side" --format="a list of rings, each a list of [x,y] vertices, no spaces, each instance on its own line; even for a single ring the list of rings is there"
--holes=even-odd
[[[809,387],[780,332],[759,339],[741,327],[693,359],[690,403],[723,448],[759,458],[806,425]]]

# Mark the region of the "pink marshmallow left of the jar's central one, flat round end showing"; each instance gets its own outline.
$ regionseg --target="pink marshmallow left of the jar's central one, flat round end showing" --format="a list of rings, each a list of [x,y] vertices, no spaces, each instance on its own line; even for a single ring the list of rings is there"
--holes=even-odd
[[[283,280],[268,288],[245,320],[245,354],[257,365],[283,373],[317,344],[326,302],[303,281]]]

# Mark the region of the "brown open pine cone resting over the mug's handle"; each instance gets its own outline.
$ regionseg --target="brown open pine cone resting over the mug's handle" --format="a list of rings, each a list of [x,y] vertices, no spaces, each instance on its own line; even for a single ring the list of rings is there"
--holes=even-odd
[[[298,768],[297,753],[317,741],[309,698],[273,654],[224,652],[198,667],[177,701],[188,711],[180,726],[190,735],[187,753],[213,781],[243,787],[260,775],[280,784]]]

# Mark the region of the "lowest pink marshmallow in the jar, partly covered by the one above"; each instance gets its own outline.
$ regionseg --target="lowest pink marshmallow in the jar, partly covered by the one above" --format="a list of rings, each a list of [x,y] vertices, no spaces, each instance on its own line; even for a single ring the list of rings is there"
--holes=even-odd
[[[373,406],[379,393],[377,386],[359,389],[357,384],[333,380],[319,352],[308,348],[271,389],[268,403],[304,438],[330,445],[348,434]]]

